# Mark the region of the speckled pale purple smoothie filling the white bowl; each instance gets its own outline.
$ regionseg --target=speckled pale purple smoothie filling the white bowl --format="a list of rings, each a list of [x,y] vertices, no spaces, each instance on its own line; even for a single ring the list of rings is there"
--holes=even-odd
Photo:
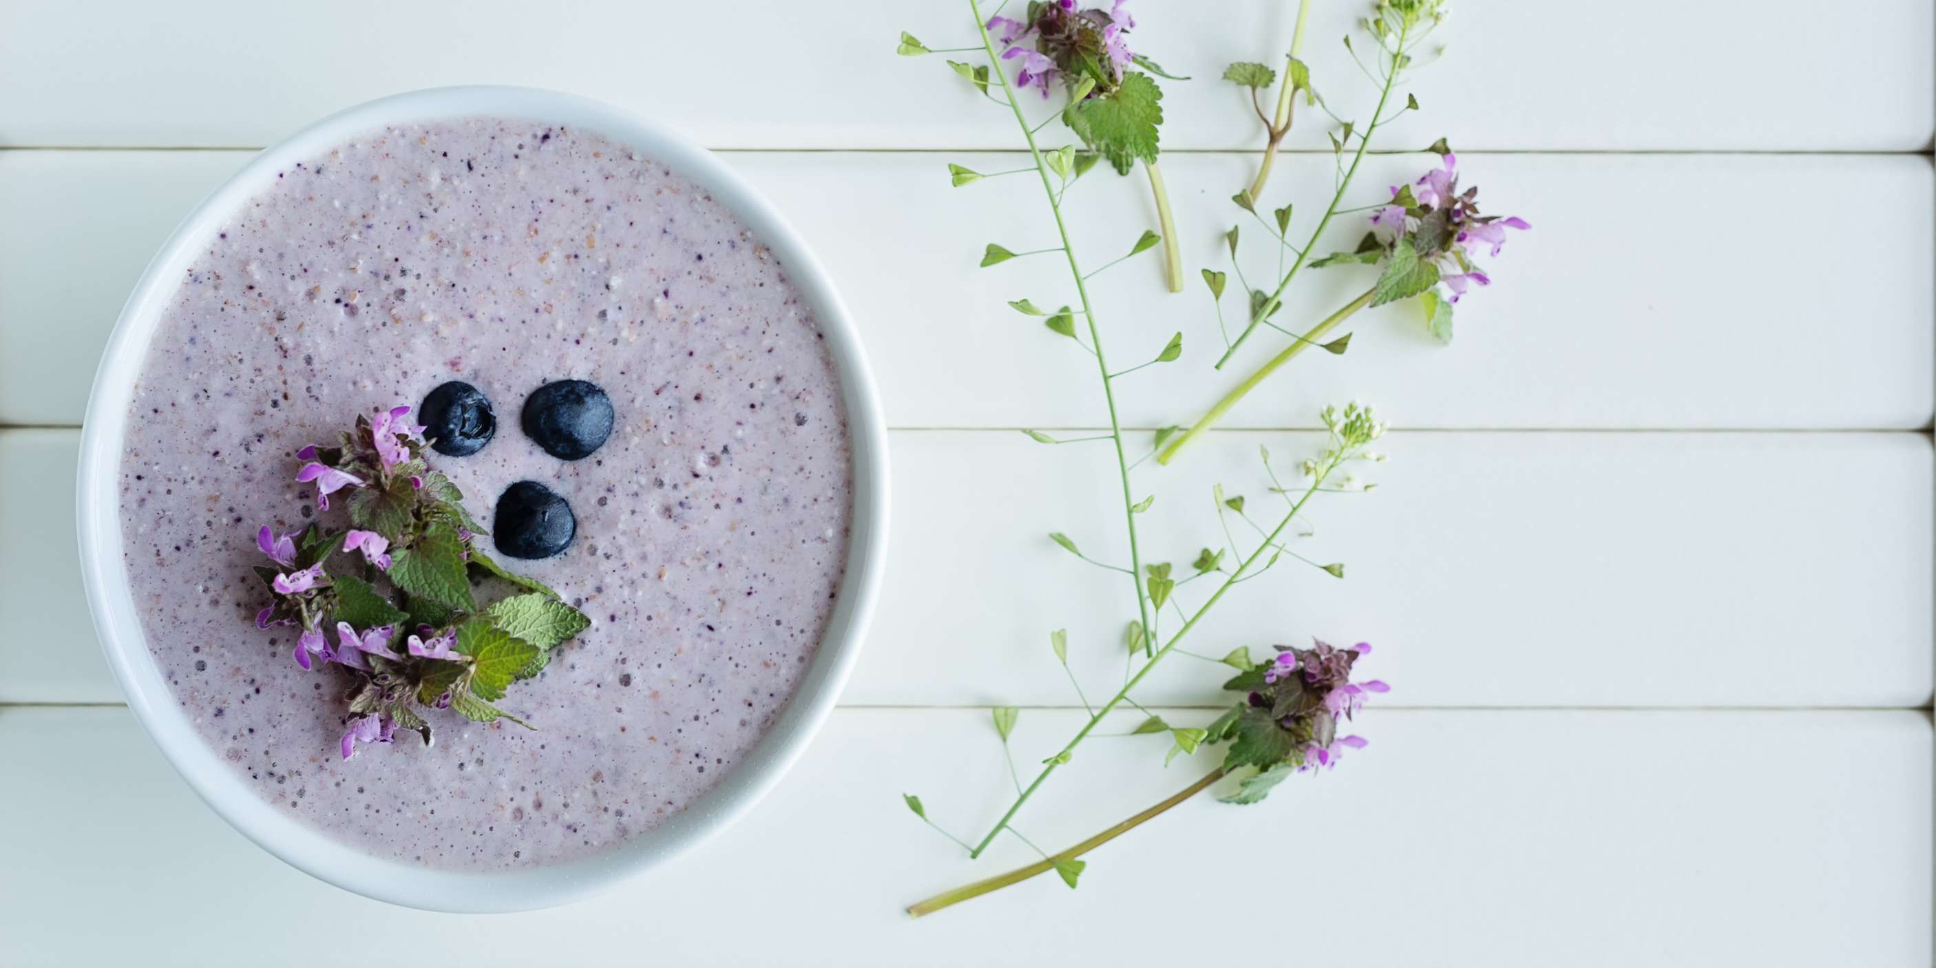
[[[267,802],[370,854],[505,869],[649,831],[745,757],[827,627],[852,507],[834,364],[745,225],[596,134],[469,118],[283,170],[205,246],[136,385],[124,554],[174,697]],[[618,410],[571,463],[517,420],[565,378]],[[432,467],[486,527],[511,482],[563,496],[569,550],[499,560],[592,627],[499,703],[536,732],[439,712],[434,747],[343,761],[348,678],[252,623],[254,532],[318,513],[296,449],[447,379],[498,434]]]

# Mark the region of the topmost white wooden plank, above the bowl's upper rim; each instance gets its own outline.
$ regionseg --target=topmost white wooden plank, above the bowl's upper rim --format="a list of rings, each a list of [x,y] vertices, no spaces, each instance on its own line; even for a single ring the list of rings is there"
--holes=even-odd
[[[534,12],[480,0],[455,15],[381,0],[21,0],[0,14],[0,137],[263,145],[356,101],[488,77],[604,97],[714,147],[1013,143],[999,110],[951,83],[939,56],[892,54],[900,29],[931,46],[980,43],[968,4],[891,10],[759,4],[722,15],[712,4],[602,0]],[[1133,10],[1134,46],[1196,77],[1167,85],[1165,141],[1256,143],[1249,103],[1216,77],[1231,60],[1280,62],[1295,4]],[[1338,43],[1363,10],[1313,12],[1305,56],[1340,114],[1376,97]],[[1495,0],[1456,6],[1438,37],[1452,50],[1419,72],[1427,114],[1394,130],[1400,141],[1444,132],[1498,149],[1903,151],[1930,137],[1932,17],[1915,0],[1777,0],[1750,17],[1717,0],[1636,0],[1617,14]],[[1297,143],[1322,145],[1320,132],[1307,122]]]

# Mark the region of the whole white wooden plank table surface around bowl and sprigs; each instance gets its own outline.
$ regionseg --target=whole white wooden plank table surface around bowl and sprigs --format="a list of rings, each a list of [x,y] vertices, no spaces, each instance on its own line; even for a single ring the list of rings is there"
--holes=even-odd
[[[1134,0],[1169,83],[1165,170],[1193,269],[1214,265],[1255,118],[1229,60],[1272,60],[1289,0]],[[1316,83],[1355,105],[1322,0]],[[900,906],[1020,862],[920,827],[985,825],[1018,759],[1080,716],[1044,647],[1119,676],[1121,589],[1042,540],[1119,542],[1092,374],[1001,306],[1051,265],[974,269],[1042,232],[1014,186],[947,161],[1014,143],[906,27],[956,46],[966,4],[0,2],[0,964],[1183,964],[1282,920],[1299,964],[1930,964],[1932,563],[1926,0],[1466,2],[1425,112],[1487,211],[1526,215],[1450,348],[1378,312],[1202,453],[1138,470],[1164,558],[1214,527],[1216,480],[1262,492],[1258,443],[1313,443],[1332,399],[1400,432],[1371,498],[1318,509],[1349,563],[1235,598],[1204,643],[1378,643],[1375,745],[1266,805],[1193,802],[1038,879],[908,922]],[[515,918],[368,902],[254,848],[174,776],[83,618],[72,492],[99,348],[163,236],[248,149],[339,106],[441,83],[558,87],[724,149],[817,246],[894,428],[891,577],[844,707],[741,825],[608,896]],[[1322,141],[1303,124],[1293,147]],[[1003,161],[993,161],[1003,166]],[[1328,155],[1276,192],[1328,186]],[[1419,168],[1373,159],[1363,186]],[[1295,186],[1295,188],[1293,188]],[[1365,192],[1371,192],[1367,188]],[[1148,219],[1142,186],[1071,194],[1078,244]],[[1119,345],[1191,337],[1138,383],[1136,426],[1200,408],[1200,292],[1117,269]],[[1195,271],[1193,271],[1195,275]],[[1289,314],[1340,302],[1307,277]],[[1210,645],[1202,645],[1210,649]],[[1146,703],[1216,703],[1167,668]],[[1086,747],[1028,811],[1063,844],[1181,786],[1156,741]],[[1247,869],[1237,844],[1280,844]],[[1295,889],[1280,877],[1291,871]],[[1307,912],[1318,912],[1318,918]],[[337,935],[337,937],[331,937]],[[1233,951],[1235,949],[1235,951]]]

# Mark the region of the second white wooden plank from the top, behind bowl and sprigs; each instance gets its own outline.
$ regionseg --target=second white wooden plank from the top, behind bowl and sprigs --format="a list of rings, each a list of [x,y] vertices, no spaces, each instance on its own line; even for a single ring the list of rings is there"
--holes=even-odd
[[[894,426],[1094,426],[1094,368],[1005,298],[1067,298],[1051,257],[976,269],[983,242],[1047,244],[1036,188],[1020,178],[951,192],[935,155],[732,155],[802,227],[862,325]],[[99,347],[174,221],[244,161],[236,153],[0,151],[0,424],[77,424]],[[1014,157],[968,155],[982,170]],[[1220,232],[1247,159],[1171,161],[1187,261],[1225,267]],[[1409,178],[1417,155],[1384,157],[1365,197]],[[1921,428],[1930,418],[1936,259],[1928,159],[1467,155],[1489,211],[1533,230],[1495,259],[1497,285],[1460,306],[1438,347],[1406,306],[1361,316],[1344,358],[1297,360],[1227,426],[1313,426],[1316,401],[1359,395],[1421,428]],[[1071,192],[1078,252],[1102,265],[1148,223],[1136,180],[1090,176]],[[1328,159],[1282,166],[1286,196],[1328,184]],[[856,190],[865,186],[865,190]],[[1773,269],[1808,199],[1806,267]],[[1878,201],[1888,199],[1888,201]],[[1305,215],[1301,219],[1311,219]],[[1361,230],[1342,219],[1336,244]],[[1253,279],[1270,275],[1247,221]],[[1713,242],[1686,242],[1694,230]],[[1719,242],[1719,238],[1729,242]],[[1179,364],[1123,387],[1138,426],[1191,420],[1241,366],[1284,337],[1258,335],[1229,376],[1200,283],[1167,296],[1154,254],[1111,269],[1100,296],[1119,366],[1185,331]],[[1293,288],[1284,319],[1311,321],[1369,285],[1324,269]],[[1231,281],[1235,287],[1235,279]],[[1241,298],[1227,296],[1231,314]],[[935,379],[951,374],[954,379]],[[1475,391],[1483,387],[1483,391]]]

